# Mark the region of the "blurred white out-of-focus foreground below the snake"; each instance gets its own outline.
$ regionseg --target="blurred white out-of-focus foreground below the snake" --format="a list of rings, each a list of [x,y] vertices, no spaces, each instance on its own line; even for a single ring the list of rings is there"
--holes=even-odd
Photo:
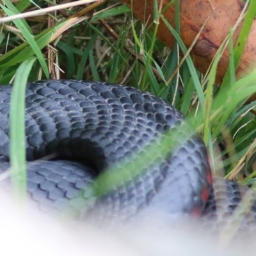
[[[17,205],[0,200],[0,255],[86,256],[250,256],[252,247],[223,246],[193,231],[172,230],[154,219],[111,231],[67,223],[45,214],[26,214]]]

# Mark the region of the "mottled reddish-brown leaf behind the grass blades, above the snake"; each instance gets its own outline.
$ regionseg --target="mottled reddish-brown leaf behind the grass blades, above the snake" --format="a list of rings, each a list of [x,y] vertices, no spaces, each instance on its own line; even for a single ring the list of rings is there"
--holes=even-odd
[[[147,24],[152,23],[152,10],[154,0],[123,0],[124,3],[132,8],[135,15],[141,20],[148,20]],[[158,5],[161,0],[157,0]],[[170,1],[163,0],[163,6]],[[132,3],[132,6],[131,6]],[[146,6],[145,6],[146,4]],[[186,47],[193,43],[198,31],[202,28],[205,20],[208,19],[198,41],[194,45],[191,56],[196,68],[205,73],[214,57],[214,54],[220,47],[228,31],[235,24],[244,3],[241,0],[180,0],[180,37]],[[175,8],[174,4],[164,13],[166,20],[175,27]],[[234,33],[234,43],[241,30],[242,24],[239,24]],[[175,40],[170,30],[160,20],[157,36],[164,44],[170,48],[173,47]],[[244,49],[243,56],[237,69],[237,76],[249,74],[256,63],[256,20],[253,22],[252,31],[248,38],[248,43]],[[216,83],[221,83],[228,65],[228,51],[226,50],[221,57],[216,74]]]

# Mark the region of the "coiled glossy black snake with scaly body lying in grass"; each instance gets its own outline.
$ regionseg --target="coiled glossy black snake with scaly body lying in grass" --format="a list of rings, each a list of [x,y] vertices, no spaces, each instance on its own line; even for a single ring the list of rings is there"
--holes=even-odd
[[[11,92],[12,85],[0,87],[1,172],[10,166]],[[167,152],[161,148],[163,141]],[[35,161],[49,154],[56,159]],[[26,156],[28,194],[43,211],[69,208],[83,216],[92,197],[89,212],[96,208],[104,218],[125,221],[157,210],[202,216],[217,225],[247,191],[236,182],[212,182],[205,145],[177,109],[150,93],[118,84],[28,83]],[[121,173],[117,183],[111,180],[113,169]],[[99,184],[106,191],[97,196],[100,188],[93,188],[93,179],[104,171],[105,183]],[[88,184],[93,188],[89,193],[84,190]],[[10,182],[4,180],[1,186],[10,189]],[[256,204],[253,198],[250,202],[241,228],[256,220]],[[216,209],[222,209],[220,214]]]

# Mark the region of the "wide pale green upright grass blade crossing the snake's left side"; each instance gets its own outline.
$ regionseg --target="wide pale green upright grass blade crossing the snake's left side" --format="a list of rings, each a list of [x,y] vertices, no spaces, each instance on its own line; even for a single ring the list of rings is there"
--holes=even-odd
[[[13,195],[26,198],[25,89],[36,58],[29,58],[17,69],[10,103],[10,163]]]

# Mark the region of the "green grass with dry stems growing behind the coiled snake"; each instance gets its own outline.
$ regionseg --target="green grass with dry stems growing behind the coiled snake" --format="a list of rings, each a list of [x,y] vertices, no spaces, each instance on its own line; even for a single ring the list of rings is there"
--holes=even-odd
[[[6,6],[1,5],[1,8],[6,15],[35,8],[28,0],[22,0],[16,6],[10,0],[5,0],[5,3]],[[47,7],[45,1],[36,3],[41,8]],[[128,84],[147,90],[168,100],[188,116],[209,148],[214,172],[221,170],[218,165],[221,163],[227,177],[253,184],[256,125],[255,115],[250,109],[256,102],[244,102],[256,92],[256,75],[250,74],[238,81],[234,76],[255,16],[253,3],[252,0],[237,47],[232,49],[230,46],[232,31],[222,45],[223,48],[229,47],[230,65],[221,88],[214,85],[214,76],[223,48],[218,51],[207,77],[196,70],[189,56],[172,77],[180,63],[178,52],[186,54],[188,51],[180,40],[179,29],[168,25],[178,42],[170,51],[157,40],[157,26],[155,31],[145,28],[127,6],[116,1],[102,1],[90,20],[78,17],[79,12],[90,16],[90,6],[78,6],[61,13],[52,12],[52,16],[45,14],[0,24],[0,84],[12,82],[18,76],[17,68],[23,63],[29,81],[49,77],[85,79]],[[72,17],[68,19],[70,15]],[[154,15],[154,19],[164,20],[161,13]],[[179,24],[179,19],[176,22]],[[36,61],[29,72],[30,67],[24,67],[24,63],[31,61],[32,56],[36,56]],[[18,127],[22,127],[21,112],[13,109],[11,113],[20,115],[19,123],[16,120]],[[12,147],[18,146],[20,142],[13,139]],[[214,154],[219,146],[220,154]],[[23,156],[24,152],[17,154]]]

